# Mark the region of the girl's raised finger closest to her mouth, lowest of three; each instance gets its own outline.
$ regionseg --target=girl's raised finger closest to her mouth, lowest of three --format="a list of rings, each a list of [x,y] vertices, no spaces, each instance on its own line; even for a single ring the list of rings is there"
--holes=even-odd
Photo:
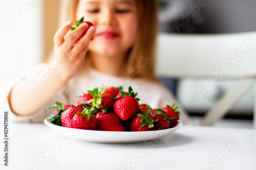
[[[84,49],[88,50],[89,43],[94,36],[95,27],[90,27],[87,33],[74,45],[72,51],[76,55],[81,53]]]

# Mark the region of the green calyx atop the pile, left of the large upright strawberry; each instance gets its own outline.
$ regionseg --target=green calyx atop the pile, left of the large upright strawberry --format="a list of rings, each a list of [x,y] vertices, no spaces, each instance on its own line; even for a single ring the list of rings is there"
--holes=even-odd
[[[104,91],[104,84],[102,85],[102,87],[100,88],[100,90],[98,89],[98,87],[93,88],[93,90],[88,90],[88,92],[93,96],[94,99],[87,101],[87,103],[91,104],[92,103],[92,107],[95,108],[99,108],[101,107],[101,98],[103,98],[104,96],[108,95],[102,95]]]

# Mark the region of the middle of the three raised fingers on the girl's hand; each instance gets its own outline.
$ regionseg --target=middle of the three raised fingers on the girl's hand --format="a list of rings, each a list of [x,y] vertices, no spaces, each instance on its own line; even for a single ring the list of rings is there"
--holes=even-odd
[[[88,29],[87,23],[82,23],[73,33],[71,33],[65,40],[64,44],[68,50],[71,50],[77,39]]]

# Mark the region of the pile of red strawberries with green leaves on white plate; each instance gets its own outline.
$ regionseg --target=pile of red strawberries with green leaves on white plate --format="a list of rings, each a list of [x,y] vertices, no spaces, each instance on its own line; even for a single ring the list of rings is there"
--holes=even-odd
[[[56,102],[49,109],[56,108],[49,118],[52,124],[87,130],[100,131],[151,131],[172,128],[179,120],[178,107],[168,106],[152,109],[139,105],[132,87],[128,92],[120,88],[88,90],[78,99],[77,105],[63,105]]]

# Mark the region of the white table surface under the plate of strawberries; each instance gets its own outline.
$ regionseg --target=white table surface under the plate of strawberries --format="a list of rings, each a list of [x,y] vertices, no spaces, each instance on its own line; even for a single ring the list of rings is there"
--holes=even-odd
[[[133,144],[79,141],[45,124],[10,124],[9,130],[4,169],[256,169],[253,129],[182,126],[174,134]],[[1,142],[2,153],[3,148]]]

